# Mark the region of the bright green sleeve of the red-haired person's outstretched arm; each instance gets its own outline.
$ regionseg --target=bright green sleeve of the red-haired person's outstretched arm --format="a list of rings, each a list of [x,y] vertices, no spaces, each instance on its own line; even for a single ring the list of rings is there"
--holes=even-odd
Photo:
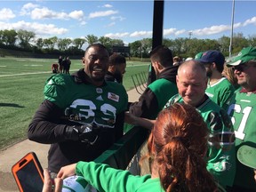
[[[150,175],[134,176],[132,173],[111,168],[108,164],[78,162],[76,174],[82,175],[98,191],[136,191],[151,178]]]

